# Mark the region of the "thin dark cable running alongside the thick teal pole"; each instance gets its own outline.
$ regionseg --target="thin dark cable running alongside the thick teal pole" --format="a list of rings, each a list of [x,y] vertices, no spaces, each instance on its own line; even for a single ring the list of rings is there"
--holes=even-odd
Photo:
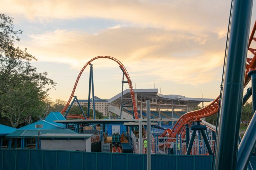
[[[219,98],[219,107],[217,112],[217,122],[216,122],[216,132],[215,132],[215,138],[214,138],[214,148],[213,148],[213,156],[212,156],[212,170],[214,168],[214,161],[215,161],[215,149],[216,149],[216,140],[217,140],[217,133],[218,133],[218,126],[219,126],[219,117],[220,117],[220,104],[221,104],[221,94],[223,91],[223,79],[224,79],[224,72],[225,72],[225,64],[226,64],[226,58],[227,58],[227,46],[228,46],[228,35],[230,30],[230,20],[231,20],[231,13],[232,13],[232,7],[233,7],[233,0],[231,0],[231,6],[230,6],[230,12],[229,12],[229,22],[228,22],[228,32],[227,32],[227,40],[226,40],[226,47],[225,47],[225,55],[224,55],[224,63],[223,63],[223,70],[222,70],[222,77],[221,77],[221,85],[220,85],[220,98]]]

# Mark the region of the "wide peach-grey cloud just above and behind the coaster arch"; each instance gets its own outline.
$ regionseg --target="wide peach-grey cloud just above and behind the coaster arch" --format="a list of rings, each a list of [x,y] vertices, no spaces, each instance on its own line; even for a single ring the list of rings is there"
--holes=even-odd
[[[67,63],[80,70],[99,55],[120,60],[134,79],[155,76],[159,81],[200,84],[216,79],[223,62],[225,39],[214,32],[191,34],[160,28],[114,27],[97,34],[55,30],[31,35],[21,47],[39,61]],[[97,68],[117,67],[113,61],[93,61]]]

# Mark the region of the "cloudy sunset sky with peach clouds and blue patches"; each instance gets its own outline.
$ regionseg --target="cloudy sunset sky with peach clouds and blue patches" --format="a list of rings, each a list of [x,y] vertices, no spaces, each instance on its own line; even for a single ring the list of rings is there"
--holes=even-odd
[[[32,65],[57,83],[49,91],[52,100],[67,101],[82,67],[100,55],[121,61],[133,88],[216,98],[230,5],[231,0],[0,0],[0,12],[23,30],[15,45],[27,48],[38,59]],[[251,29],[255,19],[254,3]],[[109,99],[120,93],[118,64],[104,58],[92,64],[95,95]],[[78,83],[78,99],[88,98],[88,85],[89,67]]]

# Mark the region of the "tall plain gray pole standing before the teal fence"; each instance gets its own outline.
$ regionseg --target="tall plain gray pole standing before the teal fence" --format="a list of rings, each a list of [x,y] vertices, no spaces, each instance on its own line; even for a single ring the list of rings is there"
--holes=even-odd
[[[147,170],[151,170],[151,122],[150,100],[147,100]]]

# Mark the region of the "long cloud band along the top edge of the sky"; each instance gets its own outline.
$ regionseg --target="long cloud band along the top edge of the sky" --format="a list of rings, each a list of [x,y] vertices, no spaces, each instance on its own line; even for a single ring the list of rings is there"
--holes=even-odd
[[[1,0],[1,12],[34,22],[105,18],[168,29],[226,32],[230,1],[222,0]]]

